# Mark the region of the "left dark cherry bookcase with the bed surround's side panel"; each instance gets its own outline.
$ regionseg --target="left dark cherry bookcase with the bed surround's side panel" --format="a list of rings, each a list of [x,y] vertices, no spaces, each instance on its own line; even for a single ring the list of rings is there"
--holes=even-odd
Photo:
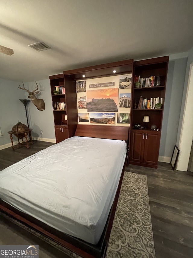
[[[52,106],[54,113],[54,127],[56,143],[74,136],[78,123],[77,101],[76,101],[76,85],[71,87],[65,85],[64,74],[49,76]],[[60,86],[61,92],[57,95],[54,90]],[[65,120],[67,118],[67,120]]]

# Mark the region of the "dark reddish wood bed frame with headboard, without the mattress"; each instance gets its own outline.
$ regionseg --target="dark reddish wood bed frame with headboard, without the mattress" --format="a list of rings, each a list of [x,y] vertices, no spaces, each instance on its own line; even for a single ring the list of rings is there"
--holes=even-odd
[[[77,125],[75,136],[128,141],[128,130],[129,128],[125,126]],[[106,255],[106,249],[108,246],[112,223],[115,216],[115,210],[122,185],[122,179],[125,171],[126,162],[127,155],[125,158],[125,163],[122,169],[122,174],[119,180],[119,185],[116,191],[115,199],[109,212],[109,217],[103,230],[103,234],[97,245],[93,245],[78,238],[64,234],[59,230],[56,230],[48,226],[47,224],[41,222],[40,220],[37,220],[34,217],[17,210],[16,208],[12,207],[11,205],[7,204],[1,199],[0,210],[84,258],[104,258]]]

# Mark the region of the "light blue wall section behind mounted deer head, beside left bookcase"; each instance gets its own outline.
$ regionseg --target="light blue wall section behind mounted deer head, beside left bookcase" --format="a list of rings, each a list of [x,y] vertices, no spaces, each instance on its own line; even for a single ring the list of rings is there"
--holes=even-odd
[[[52,97],[50,90],[49,79],[36,81],[39,87],[40,93],[36,95],[38,99],[43,99],[45,102],[45,110],[40,111],[36,106],[30,101],[28,104],[28,117],[29,126],[33,129],[32,136],[40,137],[40,132],[43,131],[42,138],[55,139],[54,131],[54,116],[52,109]],[[29,90],[35,90],[35,82],[25,83],[25,88]],[[19,89],[18,89],[19,90]],[[26,99],[28,98],[28,93],[26,92]]]

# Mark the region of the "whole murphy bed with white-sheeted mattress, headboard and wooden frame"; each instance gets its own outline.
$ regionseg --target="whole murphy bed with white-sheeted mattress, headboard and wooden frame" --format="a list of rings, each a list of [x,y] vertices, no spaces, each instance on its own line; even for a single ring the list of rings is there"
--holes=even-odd
[[[80,256],[105,256],[127,140],[128,127],[78,125],[0,172],[0,209]]]

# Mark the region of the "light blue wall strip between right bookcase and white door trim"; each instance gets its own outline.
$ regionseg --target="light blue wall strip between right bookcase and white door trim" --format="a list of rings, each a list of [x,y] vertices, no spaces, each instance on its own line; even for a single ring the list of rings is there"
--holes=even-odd
[[[164,102],[160,156],[171,157],[178,134],[187,57],[169,61]]]

